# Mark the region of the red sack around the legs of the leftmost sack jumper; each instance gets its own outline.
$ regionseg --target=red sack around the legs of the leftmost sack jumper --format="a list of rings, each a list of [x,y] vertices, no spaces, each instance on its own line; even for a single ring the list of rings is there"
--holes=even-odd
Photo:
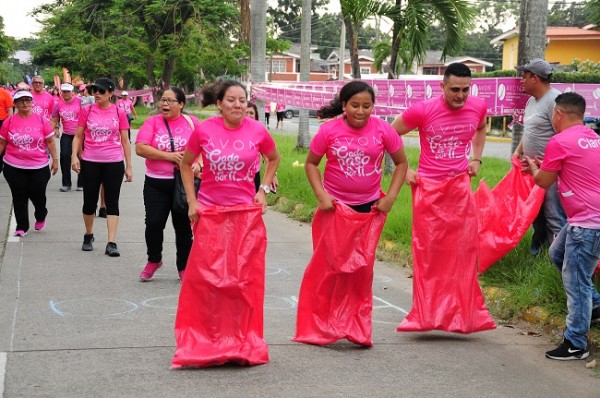
[[[266,248],[262,205],[200,211],[179,293],[173,367],[269,361],[263,338]]]

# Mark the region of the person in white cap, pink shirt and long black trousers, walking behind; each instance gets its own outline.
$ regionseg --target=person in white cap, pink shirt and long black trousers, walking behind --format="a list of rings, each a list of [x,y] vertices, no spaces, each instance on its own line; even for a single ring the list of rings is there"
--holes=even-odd
[[[62,186],[60,192],[71,190],[71,155],[73,154],[73,138],[77,131],[77,121],[81,111],[81,98],[73,95],[73,85],[63,83],[60,85],[61,99],[52,111],[52,125],[54,136],[60,138],[60,172],[62,174]],[[62,134],[60,126],[62,124]],[[77,176],[77,190],[83,191]]]

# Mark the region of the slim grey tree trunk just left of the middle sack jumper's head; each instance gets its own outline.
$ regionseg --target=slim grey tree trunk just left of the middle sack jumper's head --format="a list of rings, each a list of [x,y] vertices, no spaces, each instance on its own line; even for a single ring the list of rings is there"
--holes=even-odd
[[[310,81],[310,35],[311,0],[302,0],[302,22],[300,32],[300,81]],[[296,149],[308,148],[310,131],[308,128],[308,109],[300,108],[298,116],[298,141]]]

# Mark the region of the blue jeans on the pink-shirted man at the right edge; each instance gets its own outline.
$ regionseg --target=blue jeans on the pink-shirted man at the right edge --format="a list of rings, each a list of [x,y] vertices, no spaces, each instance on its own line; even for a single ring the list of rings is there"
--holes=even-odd
[[[550,246],[550,260],[561,272],[567,294],[565,338],[575,347],[587,347],[592,308],[600,306],[600,294],[592,275],[600,259],[600,229],[563,227]]]

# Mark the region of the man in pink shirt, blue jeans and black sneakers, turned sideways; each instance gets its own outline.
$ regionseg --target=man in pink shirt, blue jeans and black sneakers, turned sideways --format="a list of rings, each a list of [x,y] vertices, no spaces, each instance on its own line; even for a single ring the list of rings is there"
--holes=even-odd
[[[564,341],[546,357],[585,359],[590,353],[590,324],[600,318],[600,294],[592,275],[600,259],[600,138],[583,125],[585,100],[576,93],[555,99],[552,126],[556,131],[543,162],[526,157],[535,183],[547,188],[558,181],[567,223],[550,246],[550,259],[561,271],[567,294]],[[540,165],[541,164],[541,165]]]

